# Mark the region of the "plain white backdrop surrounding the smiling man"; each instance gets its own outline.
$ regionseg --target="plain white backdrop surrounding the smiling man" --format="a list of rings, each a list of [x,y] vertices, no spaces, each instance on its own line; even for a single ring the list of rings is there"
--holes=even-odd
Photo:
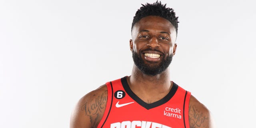
[[[68,128],[76,102],[132,70],[130,28],[155,0],[0,0],[0,127]],[[218,128],[255,126],[253,0],[162,0],[179,16],[171,79]]]

